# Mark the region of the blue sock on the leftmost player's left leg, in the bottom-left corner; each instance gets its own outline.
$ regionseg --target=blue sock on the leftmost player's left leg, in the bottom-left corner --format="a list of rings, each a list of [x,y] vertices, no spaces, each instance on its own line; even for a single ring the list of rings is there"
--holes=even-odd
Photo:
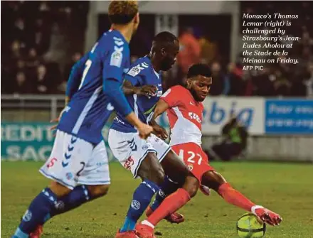
[[[29,205],[13,237],[27,238],[38,225],[43,225],[51,217],[51,211],[55,209],[56,203],[55,194],[50,188],[44,188]]]

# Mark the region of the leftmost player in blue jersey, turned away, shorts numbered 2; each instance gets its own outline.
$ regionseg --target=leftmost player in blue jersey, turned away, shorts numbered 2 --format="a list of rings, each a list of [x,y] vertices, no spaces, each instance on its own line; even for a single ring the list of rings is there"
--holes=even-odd
[[[14,238],[38,238],[43,224],[107,193],[110,173],[102,128],[112,110],[129,121],[145,139],[152,127],[142,123],[121,90],[129,70],[129,41],[139,25],[137,1],[112,1],[110,31],[74,65],[67,102],[57,126],[51,156],[40,169],[51,185],[33,199]]]

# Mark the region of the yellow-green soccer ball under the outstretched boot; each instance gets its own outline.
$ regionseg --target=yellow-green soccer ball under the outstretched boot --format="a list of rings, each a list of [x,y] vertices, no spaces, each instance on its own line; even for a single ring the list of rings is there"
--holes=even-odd
[[[245,213],[237,222],[237,232],[242,238],[260,238],[265,234],[266,225],[252,213]]]

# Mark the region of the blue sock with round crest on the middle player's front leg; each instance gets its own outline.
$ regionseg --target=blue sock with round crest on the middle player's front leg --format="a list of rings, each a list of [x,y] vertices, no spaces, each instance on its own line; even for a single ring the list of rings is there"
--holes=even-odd
[[[157,190],[159,190],[159,186],[152,181],[144,180],[140,183],[138,188],[134,191],[132,203],[120,232],[134,230],[137,220],[139,220],[139,217],[141,217],[147,209],[152,197],[157,193]]]

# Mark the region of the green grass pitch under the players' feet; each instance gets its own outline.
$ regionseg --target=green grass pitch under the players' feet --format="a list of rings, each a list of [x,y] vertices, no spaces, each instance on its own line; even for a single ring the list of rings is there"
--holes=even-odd
[[[1,163],[1,237],[10,237],[29,202],[48,180],[39,174],[38,162]],[[257,204],[282,215],[279,227],[267,226],[267,238],[313,237],[313,166],[288,163],[212,163],[235,188]],[[111,163],[112,186],[104,198],[53,217],[44,227],[43,237],[109,238],[124,220],[132,191],[140,182]],[[235,222],[244,213],[228,205],[215,192],[196,198],[181,209],[186,222],[171,225],[162,221],[156,231],[162,238],[235,238]],[[142,217],[143,218],[143,217]]]

